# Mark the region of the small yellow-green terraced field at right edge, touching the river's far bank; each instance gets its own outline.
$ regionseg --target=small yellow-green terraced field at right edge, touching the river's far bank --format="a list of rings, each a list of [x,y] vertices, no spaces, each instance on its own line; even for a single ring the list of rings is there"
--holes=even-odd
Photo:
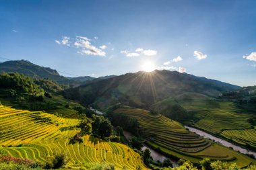
[[[256,129],[224,130],[221,133],[225,138],[232,139],[239,144],[250,145],[256,148]]]

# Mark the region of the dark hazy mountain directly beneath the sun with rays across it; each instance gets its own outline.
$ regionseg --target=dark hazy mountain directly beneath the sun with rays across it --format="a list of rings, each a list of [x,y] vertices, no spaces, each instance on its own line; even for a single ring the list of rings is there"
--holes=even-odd
[[[66,91],[65,95],[98,108],[106,108],[115,103],[148,108],[167,97],[194,92],[208,96],[218,96],[224,91],[239,89],[216,80],[196,77],[177,71],[153,71],[127,73],[110,79],[82,85]]]

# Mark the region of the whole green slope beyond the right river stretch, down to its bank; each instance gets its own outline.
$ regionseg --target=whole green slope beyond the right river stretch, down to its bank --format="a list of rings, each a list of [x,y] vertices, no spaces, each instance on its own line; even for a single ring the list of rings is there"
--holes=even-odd
[[[169,112],[168,105],[177,103],[185,110],[191,111],[190,121],[185,123],[212,134],[232,139],[238,144],[256,148],[256,130],[249,118],[256,118],[253,113],[240,110],[230,101],[218,101],[197,93],[185,93],[170,97],[152,106],[153,110]]]

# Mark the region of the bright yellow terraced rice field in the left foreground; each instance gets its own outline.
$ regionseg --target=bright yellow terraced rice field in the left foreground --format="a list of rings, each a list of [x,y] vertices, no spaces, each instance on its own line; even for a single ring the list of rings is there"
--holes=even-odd
[[[45,162],[57,153],[66,153],[67,167],[80,169],[86,163],[113,163],[115,169],[147,169],[131,148],[83,136],[83,142],[69,144],[77,130],[61,130],[78,123],[44,112],[15,110],[0,105],[0,153]],[[85,168],[85,167],[84,167]]]

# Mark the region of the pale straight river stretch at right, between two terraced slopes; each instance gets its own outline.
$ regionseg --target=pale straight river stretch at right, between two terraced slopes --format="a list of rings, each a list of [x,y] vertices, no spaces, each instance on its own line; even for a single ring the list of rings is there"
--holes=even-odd
[[[189,126],[184,126],[184,127],[187,128],[190,132],[195,132],[199,136],[203,136],[204,138],[214,140],[215,142],[218,142],[218,143],[222,144],[223,146],[232,148],[234,151],[238,151],[238,152],[243,153],[243,154],[253,155],[256,158],[256,153],[253,152],[253,151],[249,151],[246,148],[242,148],[241,146],[234,145],[234,144],[232,144],[232,143],[230,143],[226,140],[217,138],[215,136],[212,136],[211,134],[207,134],[206,132],[203,132],[202,130],[198,130],[196,128],[191,128]]]

